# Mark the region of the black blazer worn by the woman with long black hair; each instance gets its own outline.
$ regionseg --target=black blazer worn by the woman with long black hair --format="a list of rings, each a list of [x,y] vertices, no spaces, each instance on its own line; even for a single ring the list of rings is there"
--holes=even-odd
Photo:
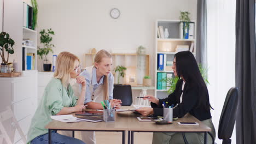
[[[168,95],[165,99],[159,99],[159,105],[155,103],[151,103],[151,106],[154,110],[154,116],[162,116],[164,113],[164,109],[162,109],[162,102],[168,101],[169,105],[176,105],[178,106],[173,109],[173,116],[176,117],[183,117],[185,114],[190,113],[200,121],[205,119],[211,118],[210,107],[209,109],[205,110],[203,106],[199,106],[199,88],[198,87],[191,87],[190,83],[186,82],[183,91],[183,99],[182,103],[180,103],[180,97],[182,94],[182,83],[183,80],[179,80],[176,85],[176,89],[173,93]]]

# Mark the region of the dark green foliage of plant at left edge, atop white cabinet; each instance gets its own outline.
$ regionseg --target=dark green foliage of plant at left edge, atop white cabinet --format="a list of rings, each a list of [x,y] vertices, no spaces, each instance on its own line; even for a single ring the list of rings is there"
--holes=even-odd
[[[15,42],[13,39],[10,38],[10,35],[6,32],[0,33],[0,50],[2,51],[2,54],[0,52],[0,55],[2,57],[3,63],[7,64],[9,60],[9,54],[14,53],[14,46]],[[4,50],[7,52],[7,59],[5,59],[4,56]]]

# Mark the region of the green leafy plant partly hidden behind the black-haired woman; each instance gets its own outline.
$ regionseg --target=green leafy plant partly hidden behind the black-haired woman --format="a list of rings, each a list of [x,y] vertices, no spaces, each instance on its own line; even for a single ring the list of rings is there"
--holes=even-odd
[[[205,81],[206,85],[210,84],[207,79],[207,71],[208,71],[207,67],[203,66],[202,64],[198,64],[198,67],[199,67],[200,73],[201,73],[202,78]],[[170,88],[167,89],[168,94],[172,93],[175,90],[178,80],[179,80],[179,77],[168,77],[166,79],[161,80],[161,81],[165,81],[166,83],[168,83],[170,85]]]

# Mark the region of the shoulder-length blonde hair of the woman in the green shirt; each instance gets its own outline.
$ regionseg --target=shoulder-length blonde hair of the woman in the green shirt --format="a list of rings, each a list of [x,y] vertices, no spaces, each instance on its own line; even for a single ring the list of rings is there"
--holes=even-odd
[[[54,77],[56,79],[61,79],[62,85],[64,85],[66,88],[68,86],[69,80],[71,79],[70,73],[72,70],[74,70],[75,61],[80,63],[80,60],[77,56],[67,51],[61,52],[57,56]]]

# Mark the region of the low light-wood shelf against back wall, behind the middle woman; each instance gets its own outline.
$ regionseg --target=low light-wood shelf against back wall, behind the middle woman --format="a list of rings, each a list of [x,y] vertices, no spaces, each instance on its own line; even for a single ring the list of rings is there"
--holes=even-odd
[[[117,83],[118,79],[118,75],[114,71],[117,65],[123,65],[127,68],[125,77],[120,77],[120,83],[123,84],[137,87],[142,85],[142,79],[145,75],[150,75],[149,55],[137,55],[137,53],[111,53],[111,55],[113,59],[111,73],[114,75],[114,83]],[[85,53],[85,67],[94,65],[94,56],[95,54]],[[141,59],[140,61],[142,61],[144,68],[138,68],[138,59]],[[131,77],[135,77],[135,82],[130,82]]]

